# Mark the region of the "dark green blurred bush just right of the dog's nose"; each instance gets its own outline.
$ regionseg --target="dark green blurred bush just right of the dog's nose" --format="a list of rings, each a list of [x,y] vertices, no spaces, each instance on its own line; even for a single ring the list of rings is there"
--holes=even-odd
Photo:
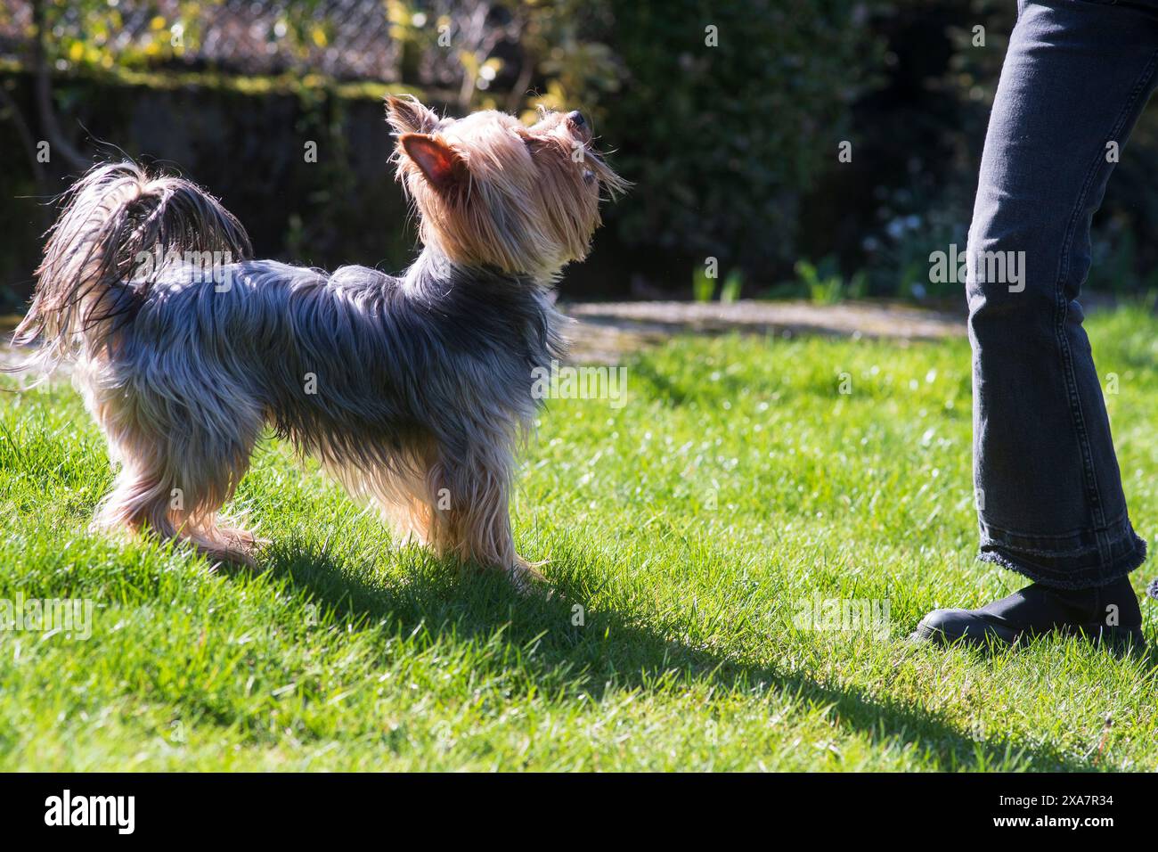
[[[625,79],[599,130],[636,184],[613,213],[620,235],[760,277],[790,268],[800,197],[836,166],[878,58],[863,5],[608,2]]]

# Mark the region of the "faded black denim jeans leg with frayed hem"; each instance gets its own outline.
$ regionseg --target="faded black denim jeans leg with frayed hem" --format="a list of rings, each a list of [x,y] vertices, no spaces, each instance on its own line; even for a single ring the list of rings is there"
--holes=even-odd
[[[1145,559],[1077,298],[1156,63],[1158,0],[1021,0],[985,137],[966,276],[981,559],[1056,588]]]

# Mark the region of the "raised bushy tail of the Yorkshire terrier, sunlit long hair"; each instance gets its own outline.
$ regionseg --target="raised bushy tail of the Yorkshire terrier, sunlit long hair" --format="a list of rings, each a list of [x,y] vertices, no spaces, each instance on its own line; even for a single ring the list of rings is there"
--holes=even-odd
[[[159,275],[191,253],[249,257],[249,236],[217,198],[135,162],[91,168],[63,196],[36,293],[13,342],[37,345],[17,367],[51,372],[81,349],[108,345],[135,316]],[[214,256],[219,256],[214,254]]]

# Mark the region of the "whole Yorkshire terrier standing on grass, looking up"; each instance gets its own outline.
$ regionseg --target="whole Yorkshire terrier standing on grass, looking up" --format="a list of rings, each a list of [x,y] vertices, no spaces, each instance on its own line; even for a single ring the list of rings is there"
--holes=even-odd
[[[398,277],[248,260],[215,198],[133,162],[68,191],[14,340],[41,344],[25,367],[75,362],[119,464],[97,526],[254,563],[254,534],[218,514],[270,424],[403,536],[520,587],[537,576],[508,503],[533,371],[563,350],[551,289],[626,183],[579,112],[528,128],[390,97],[387,116],[423,242]]]

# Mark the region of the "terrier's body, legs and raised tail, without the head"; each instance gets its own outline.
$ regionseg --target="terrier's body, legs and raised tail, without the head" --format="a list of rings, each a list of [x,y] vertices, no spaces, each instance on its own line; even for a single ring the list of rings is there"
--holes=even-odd
[[[245,261],[217,281],[184,263],[123,279],[138,252],[162,245],[248,249],[236,220],[193,194],[133,163],[89,173],[51,233],[17,333],[42,343],[35,366],[76,362],[120,464],[96,525],[147,526],[248,561],[252,537],[215,514],[271,424],[400,532],[529,573],[507,512],[538,405],[532,371],[563,355],[549,291],[432,248],[402,277]]]

